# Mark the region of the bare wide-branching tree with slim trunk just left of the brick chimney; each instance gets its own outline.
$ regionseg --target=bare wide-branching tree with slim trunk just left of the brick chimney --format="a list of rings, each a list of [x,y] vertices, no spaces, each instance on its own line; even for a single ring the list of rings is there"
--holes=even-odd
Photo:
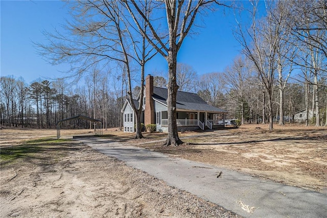
[[[120,1],[77,1],[73,2],[74,21],[68,23],[68,33],[50,34],[49,45],[37,43],[39,53],[52,63],[71,62],[73,71],[80,76],[95,64],[103,67],[110,61],[121,63],[128,81],[128,95],[136,113],[136,138],[142,138],[141,112],[142,102],[136,108],[132,101],[131,66],[137,62],[141,67],[141,95],[144,89],[145,64],[156,52],[147,42],[143,34],[129,23]],[[144,2],[139,10],[150,20],[150,4]],[[148,24],[140,24],[141,31],[148,32]],[[153,52],[154,51],[154,52]],[[82,64],[80,64],[82,63]],[[74,65],[75,64],[75,65]],[[141,97],[141,101],[143,98]]]

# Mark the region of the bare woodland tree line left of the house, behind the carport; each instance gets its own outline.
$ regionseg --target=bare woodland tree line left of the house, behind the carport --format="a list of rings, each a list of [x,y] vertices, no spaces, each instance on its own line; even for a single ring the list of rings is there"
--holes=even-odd
[[[103,121],[103,128],[119,126],[120,93],[108,90],[106,80],[90,77],[71,89],[63,79],[26,84],[22,78],[0,78],[0,124],[8,127],[56,128],[60,120],[84,115]],[[103,79],[103,78],[102,78]],[[97,84],[99,83],[99,84]],[[94,128],[84,120],[63,122],[61,128]]]

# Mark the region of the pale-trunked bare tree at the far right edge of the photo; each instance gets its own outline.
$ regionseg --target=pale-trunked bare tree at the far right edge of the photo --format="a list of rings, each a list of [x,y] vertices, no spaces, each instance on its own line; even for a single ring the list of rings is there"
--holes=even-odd
[[[289,29],[295,39],[294,45],[301,53],[294,62],[309,70],[313,80],[305,77],[306,89],[313,85],[313,106],[316,126],[320,125],[319,76],[327,73],[327,4],[325,1],[290,1]],[[308,114],[308,113],[307,113]]]

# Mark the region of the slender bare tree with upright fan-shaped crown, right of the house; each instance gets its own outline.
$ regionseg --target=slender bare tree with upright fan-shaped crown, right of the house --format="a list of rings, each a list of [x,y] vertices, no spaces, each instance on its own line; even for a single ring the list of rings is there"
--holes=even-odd
[[[275,22],[272,10],[274,2],[266,4],[267,16],[258,20],[258,1],[252,2],[252,10],[249,10],[252,23],[250,28],[238,23],[236,39],[243,47],[243,53],[253,62],[258,71],[265,93],[268,99],[269,129],[273,129],[273,86],[275,71],[277,69],[277,49],[281,40],[285,23]],[[263,118],[264,119],[264,118]]]

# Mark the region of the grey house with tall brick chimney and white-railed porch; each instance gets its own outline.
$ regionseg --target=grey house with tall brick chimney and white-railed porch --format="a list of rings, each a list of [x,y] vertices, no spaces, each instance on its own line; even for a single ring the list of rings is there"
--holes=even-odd
[[[138,95],[133,99],[136,106],[139,104]],[[156,124],[159,132],[168,132],[168,90],[153,86],[153,76],[146,77],[144,103],[141,122],[145,125]],[[131,100],[127,99],[122,108],[124,132],[134,132],[135,112]],[[226,111],[207,104],[195,93],[177,91],[176,122],[178,131],[213,129],[225,125]]]

